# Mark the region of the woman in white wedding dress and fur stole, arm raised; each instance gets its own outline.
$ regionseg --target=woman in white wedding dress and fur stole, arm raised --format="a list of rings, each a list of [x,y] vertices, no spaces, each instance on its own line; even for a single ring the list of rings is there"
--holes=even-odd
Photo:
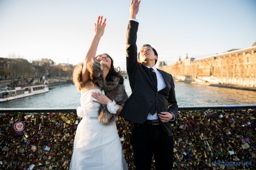
[[[106,18],[102,18],[99,16],[95,23],[84,62],[73,72],[73,82],[81,92],[77,115],[83,118],[77,126],[69,169],[128,169],[115,125],[127,100],[124,80],[108,54],[96,56],[106,27]]]

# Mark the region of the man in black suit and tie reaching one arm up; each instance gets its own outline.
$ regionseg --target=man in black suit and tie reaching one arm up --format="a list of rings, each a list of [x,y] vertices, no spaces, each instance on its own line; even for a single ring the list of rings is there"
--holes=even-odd
[[[172,169],[173,138],[171,122],[178,117],[174,82],[170,74],[156,68],[158,54],[143,45],[137,59],[136,15],[141,1],[132,0],[126,33],[126,69],[132,94],[121,116],[133,122],[131,144],[136,169],[150,169],[155,156],[157,169]]]

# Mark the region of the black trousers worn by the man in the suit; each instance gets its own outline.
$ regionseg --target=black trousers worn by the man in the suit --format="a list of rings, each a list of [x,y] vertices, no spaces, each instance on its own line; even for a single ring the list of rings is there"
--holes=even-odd
[[[158,170],[170,170],[173,166],[173,138],[161,125],[133,123],[131,144],[137,170],[150,170],[152,157]]]

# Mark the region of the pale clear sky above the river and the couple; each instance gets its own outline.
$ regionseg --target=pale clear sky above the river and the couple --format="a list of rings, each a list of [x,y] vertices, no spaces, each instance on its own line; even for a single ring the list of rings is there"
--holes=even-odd
[[[82,62],[98,15],[107,27],[98,53],[107,52],[125,68],[129,0],[0,0],[0,57],[56,63]],[[159,60],[201,58],[256,41],[255,0],[142,0],[137,45],[156,48]]]

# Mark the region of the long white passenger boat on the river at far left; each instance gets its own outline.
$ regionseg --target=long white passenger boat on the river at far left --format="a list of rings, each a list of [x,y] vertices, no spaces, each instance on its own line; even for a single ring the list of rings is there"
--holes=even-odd
[[[0,102],[6,102],[9,100],[25,98],[31,95],[46,93],[48,91],[49,91],[49,87],[46,84],[36,84],[32,86],[16,87],[15,89],[2,87],[0,91]]]

